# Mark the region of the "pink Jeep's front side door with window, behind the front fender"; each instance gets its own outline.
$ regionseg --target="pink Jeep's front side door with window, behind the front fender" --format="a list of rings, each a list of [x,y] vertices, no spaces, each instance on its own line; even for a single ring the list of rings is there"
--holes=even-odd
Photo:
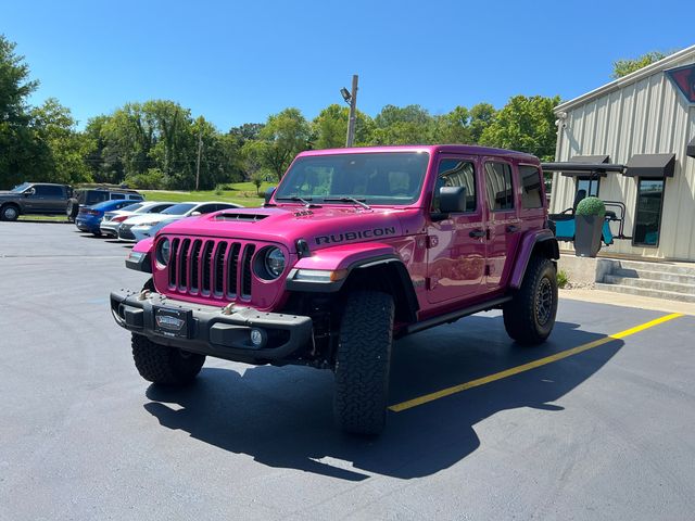
[[[428,226],[428,300],[432,303],[468,298],[484,292],[485,224],[480,165],[476,157],[443,156]],[[466,211],[441,215],[439,189],[464,187]]]

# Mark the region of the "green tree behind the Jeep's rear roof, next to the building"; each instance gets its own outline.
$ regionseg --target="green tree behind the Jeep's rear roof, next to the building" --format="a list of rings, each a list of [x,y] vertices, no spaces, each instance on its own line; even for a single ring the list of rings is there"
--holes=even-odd
[[[518,150],[551,161],[555,156],[555,109],[560,98],[515,96],[483,130],[480,144]]]

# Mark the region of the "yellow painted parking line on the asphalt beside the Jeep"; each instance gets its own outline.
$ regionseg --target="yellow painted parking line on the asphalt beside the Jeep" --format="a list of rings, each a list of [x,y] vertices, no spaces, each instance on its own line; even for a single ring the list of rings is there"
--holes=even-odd
[[[683,315],[680,313],[672,313],[670,315],[665,315],[664,317],[649,320],[648,322],[641,323],[640,326],[635,326],[634,328],[626,329],[624,331],[620,331],[615,334],[609,334],[608,336],[603,336],[592,342],[587,342],[586,344],[572,347],[571,350],[561,351],[554,355],[546,356],[545,358],[539,358],[538,360],[533,360],[533,361],[529,361],[528,364],[522,364],[520,366],[511,367],[509,369],[505,369],[504,371],[495,372],[493,374],[478,378],[469,382],[460,383],[452,387],[442,389],[441,391],[426,394],[417,398],[408,399],[407,402],[401,402],[400,404],[390,406],[389,409],[393,410],[394,412],[401,412],[403,410],[412,409],[413,407],[417,407],[418,405],[428,404],[430,402],[434,402],[435,399],[443,398],[445,396],[451,396],[452,394],[460,393],[462,391],[466,391],[467,389],[484,385],[485,383],[502,380],[503,378],[513,377],[520,372],[529,371],[531,369],[535,369],[536,367],[546,366],[547,364],[552,364],[554,361],[558,361],[564,358],[578,355],[579,353],[593,350],[594,347],[598,347],[599,345],[607,344],[608,342],[612,342],[614,340],[624,339],[626,336],[630,336],[631,334],[639,333],[640,331],[644,331],[645,329],[653,328],[655,326],[658,326],[659,323],[668,322],[669,320],[673,320],[674,318],[679,318],[682,316]]]

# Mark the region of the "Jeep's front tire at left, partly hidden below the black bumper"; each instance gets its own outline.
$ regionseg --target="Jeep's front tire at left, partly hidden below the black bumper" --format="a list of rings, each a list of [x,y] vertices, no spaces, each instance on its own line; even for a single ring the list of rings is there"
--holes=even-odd
[[[161,345],[136,333],[132,333],[132,359],[146,380],[176,386],[192,382],[205,363],[204,355]]]

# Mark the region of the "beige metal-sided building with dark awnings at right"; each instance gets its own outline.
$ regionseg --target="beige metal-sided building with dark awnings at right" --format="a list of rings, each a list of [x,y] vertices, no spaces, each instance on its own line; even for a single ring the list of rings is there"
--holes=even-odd
[[[626,205],[624,234],[602,250],[695,262],[695,46],[558,105],[557,162],[623,171],[553,174],[551,212],[578,191]],[[571,251],[572,243],[561,242]]]

